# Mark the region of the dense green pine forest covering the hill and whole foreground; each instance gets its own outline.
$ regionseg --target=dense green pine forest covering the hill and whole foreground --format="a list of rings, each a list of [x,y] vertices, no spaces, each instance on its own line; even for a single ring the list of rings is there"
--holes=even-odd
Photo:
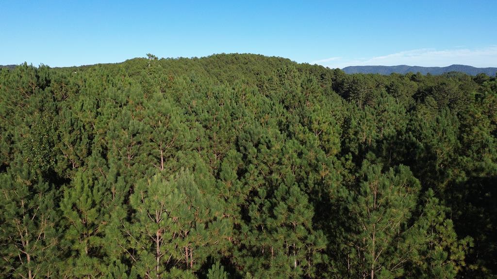
[[[495,278],[495,76],[0,69],[0,278]]]

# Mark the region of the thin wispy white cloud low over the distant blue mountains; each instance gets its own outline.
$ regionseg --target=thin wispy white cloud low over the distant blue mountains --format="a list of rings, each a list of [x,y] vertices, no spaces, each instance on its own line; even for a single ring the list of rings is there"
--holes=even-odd
[[[366,59],[342,59],[333,57],[313,62],[330,68],[366,65],[409,65],[424,67],[445,67],[462,64],[474,67],[497,67],[497,46],[481,49],[417,49]]]

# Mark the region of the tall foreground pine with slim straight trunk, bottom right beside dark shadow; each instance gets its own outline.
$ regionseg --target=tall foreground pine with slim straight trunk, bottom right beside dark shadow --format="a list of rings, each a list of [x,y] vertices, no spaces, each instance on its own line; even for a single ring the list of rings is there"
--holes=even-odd
[[[348,201],[350,229],[344,255],[349,278],[399,277],[400,259],[392,253],[416,207],[419,182],[409,168],[382,173],[381,165],[363,162],[359,187]]]

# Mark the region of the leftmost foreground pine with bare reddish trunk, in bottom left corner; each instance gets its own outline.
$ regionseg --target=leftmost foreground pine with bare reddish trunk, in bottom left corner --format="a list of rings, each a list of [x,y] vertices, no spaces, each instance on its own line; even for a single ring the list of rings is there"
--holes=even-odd
[[[58,278],[57,191],[24,166],[0,174],[0,192],[0,276]]]

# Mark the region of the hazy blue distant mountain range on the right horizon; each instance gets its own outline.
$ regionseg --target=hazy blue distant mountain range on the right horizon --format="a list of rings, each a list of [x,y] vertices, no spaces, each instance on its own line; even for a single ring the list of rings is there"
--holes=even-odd
[[[405,74],[408,72],[420,72],[422,74],[442,74],[450,71],[464,72],[470,75],[486,73],[490,76],[495,76],[497,68],[475,68],[466,65],[451,65],[447,67],[420,67],[420,66],[349,66],[342,69],[346,73],[379,73],[391,74],[393,72]]]

